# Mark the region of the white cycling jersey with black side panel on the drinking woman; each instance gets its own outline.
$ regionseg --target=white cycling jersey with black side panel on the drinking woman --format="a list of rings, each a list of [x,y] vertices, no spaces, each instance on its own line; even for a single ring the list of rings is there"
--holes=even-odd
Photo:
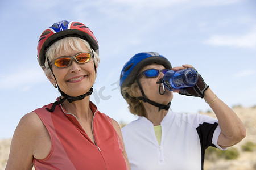
[[[168,111],[161,122],[159,146],[154,125],[145,117],[122,128],[123,141],[131,170],[203,169],[208,146],[217,145],[218,120],[201,114]]]

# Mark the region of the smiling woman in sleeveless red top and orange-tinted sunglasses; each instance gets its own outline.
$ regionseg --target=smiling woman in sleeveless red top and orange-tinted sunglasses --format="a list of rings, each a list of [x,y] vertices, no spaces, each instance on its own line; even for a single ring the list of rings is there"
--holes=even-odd
[[[118,123],[90,101],[100,62],[92,31],[53,24],[40,36],[38,61],[61,96],[22,117],[6,169],[130,169]]]

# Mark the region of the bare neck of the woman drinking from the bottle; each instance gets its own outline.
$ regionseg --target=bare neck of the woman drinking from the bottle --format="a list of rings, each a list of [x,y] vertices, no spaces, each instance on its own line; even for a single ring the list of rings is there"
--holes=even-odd
[[[160,123],[162,122],[164,116],[166,116],[168,111],[161,109],[158,112],[159,108],[155,107],[154,105],[151,105],[148,103],[144,103],[143,105],[146,110],[144,117],[146,117],[149,121],[151,121],[152,124],[154,124],[154,126],[160,125]]]

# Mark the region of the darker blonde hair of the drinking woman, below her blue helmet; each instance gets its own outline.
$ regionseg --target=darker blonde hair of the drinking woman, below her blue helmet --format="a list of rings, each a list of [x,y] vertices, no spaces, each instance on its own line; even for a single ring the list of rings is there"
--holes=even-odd
[[[133,84],[127,87],[123,87],[122,94],[125,96],[127,104],[129,104],[129,110],[132,114],[137,116],[144,116],[146,110],[143,104],[138,99],[137,89],[139,88],[136,80]]]

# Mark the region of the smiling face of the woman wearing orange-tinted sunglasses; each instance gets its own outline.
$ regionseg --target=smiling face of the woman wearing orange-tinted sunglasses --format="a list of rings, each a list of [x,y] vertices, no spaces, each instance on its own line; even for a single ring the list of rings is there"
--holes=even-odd
[[[56,58],[59,57],[71,57],[79,54],[81,52],[91,53],[82,41],[80,41],[81,50],[76,51],[72,48],[65,50],[60,50]],[[94,70],[93,59],[91,58],[87,63],[77,63],[75,59],[72,59],[70,65],[65,68],[59,68],[52,65],[52,71],[57,80],[59,88],[69,96],[80,96],[85,94],[93,86],[96,79],[96,73]],[[55,79],[50,79],[51,82]]]

